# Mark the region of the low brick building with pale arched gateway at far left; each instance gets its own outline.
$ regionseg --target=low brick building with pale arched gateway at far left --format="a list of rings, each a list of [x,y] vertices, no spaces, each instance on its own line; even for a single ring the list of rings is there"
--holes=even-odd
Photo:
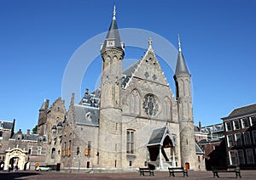
[[[45,164],[46,149],[45,135],[15,132],[15,120],[0,121],[1,170],[27,170],[36,163]]]

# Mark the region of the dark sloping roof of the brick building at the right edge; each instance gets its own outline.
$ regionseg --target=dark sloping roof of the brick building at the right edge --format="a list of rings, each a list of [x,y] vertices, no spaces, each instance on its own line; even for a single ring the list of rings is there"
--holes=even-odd
[[[252,114],[256,114],[256,104],[250,104],[247,106],[243,106],[241,108],[236,108],[235,110],[232,110],[230,115],[228,115],[227,117],[223,117],[221,119],[227,120],[234,117],[240,117],[240,116],[252,115]]]

